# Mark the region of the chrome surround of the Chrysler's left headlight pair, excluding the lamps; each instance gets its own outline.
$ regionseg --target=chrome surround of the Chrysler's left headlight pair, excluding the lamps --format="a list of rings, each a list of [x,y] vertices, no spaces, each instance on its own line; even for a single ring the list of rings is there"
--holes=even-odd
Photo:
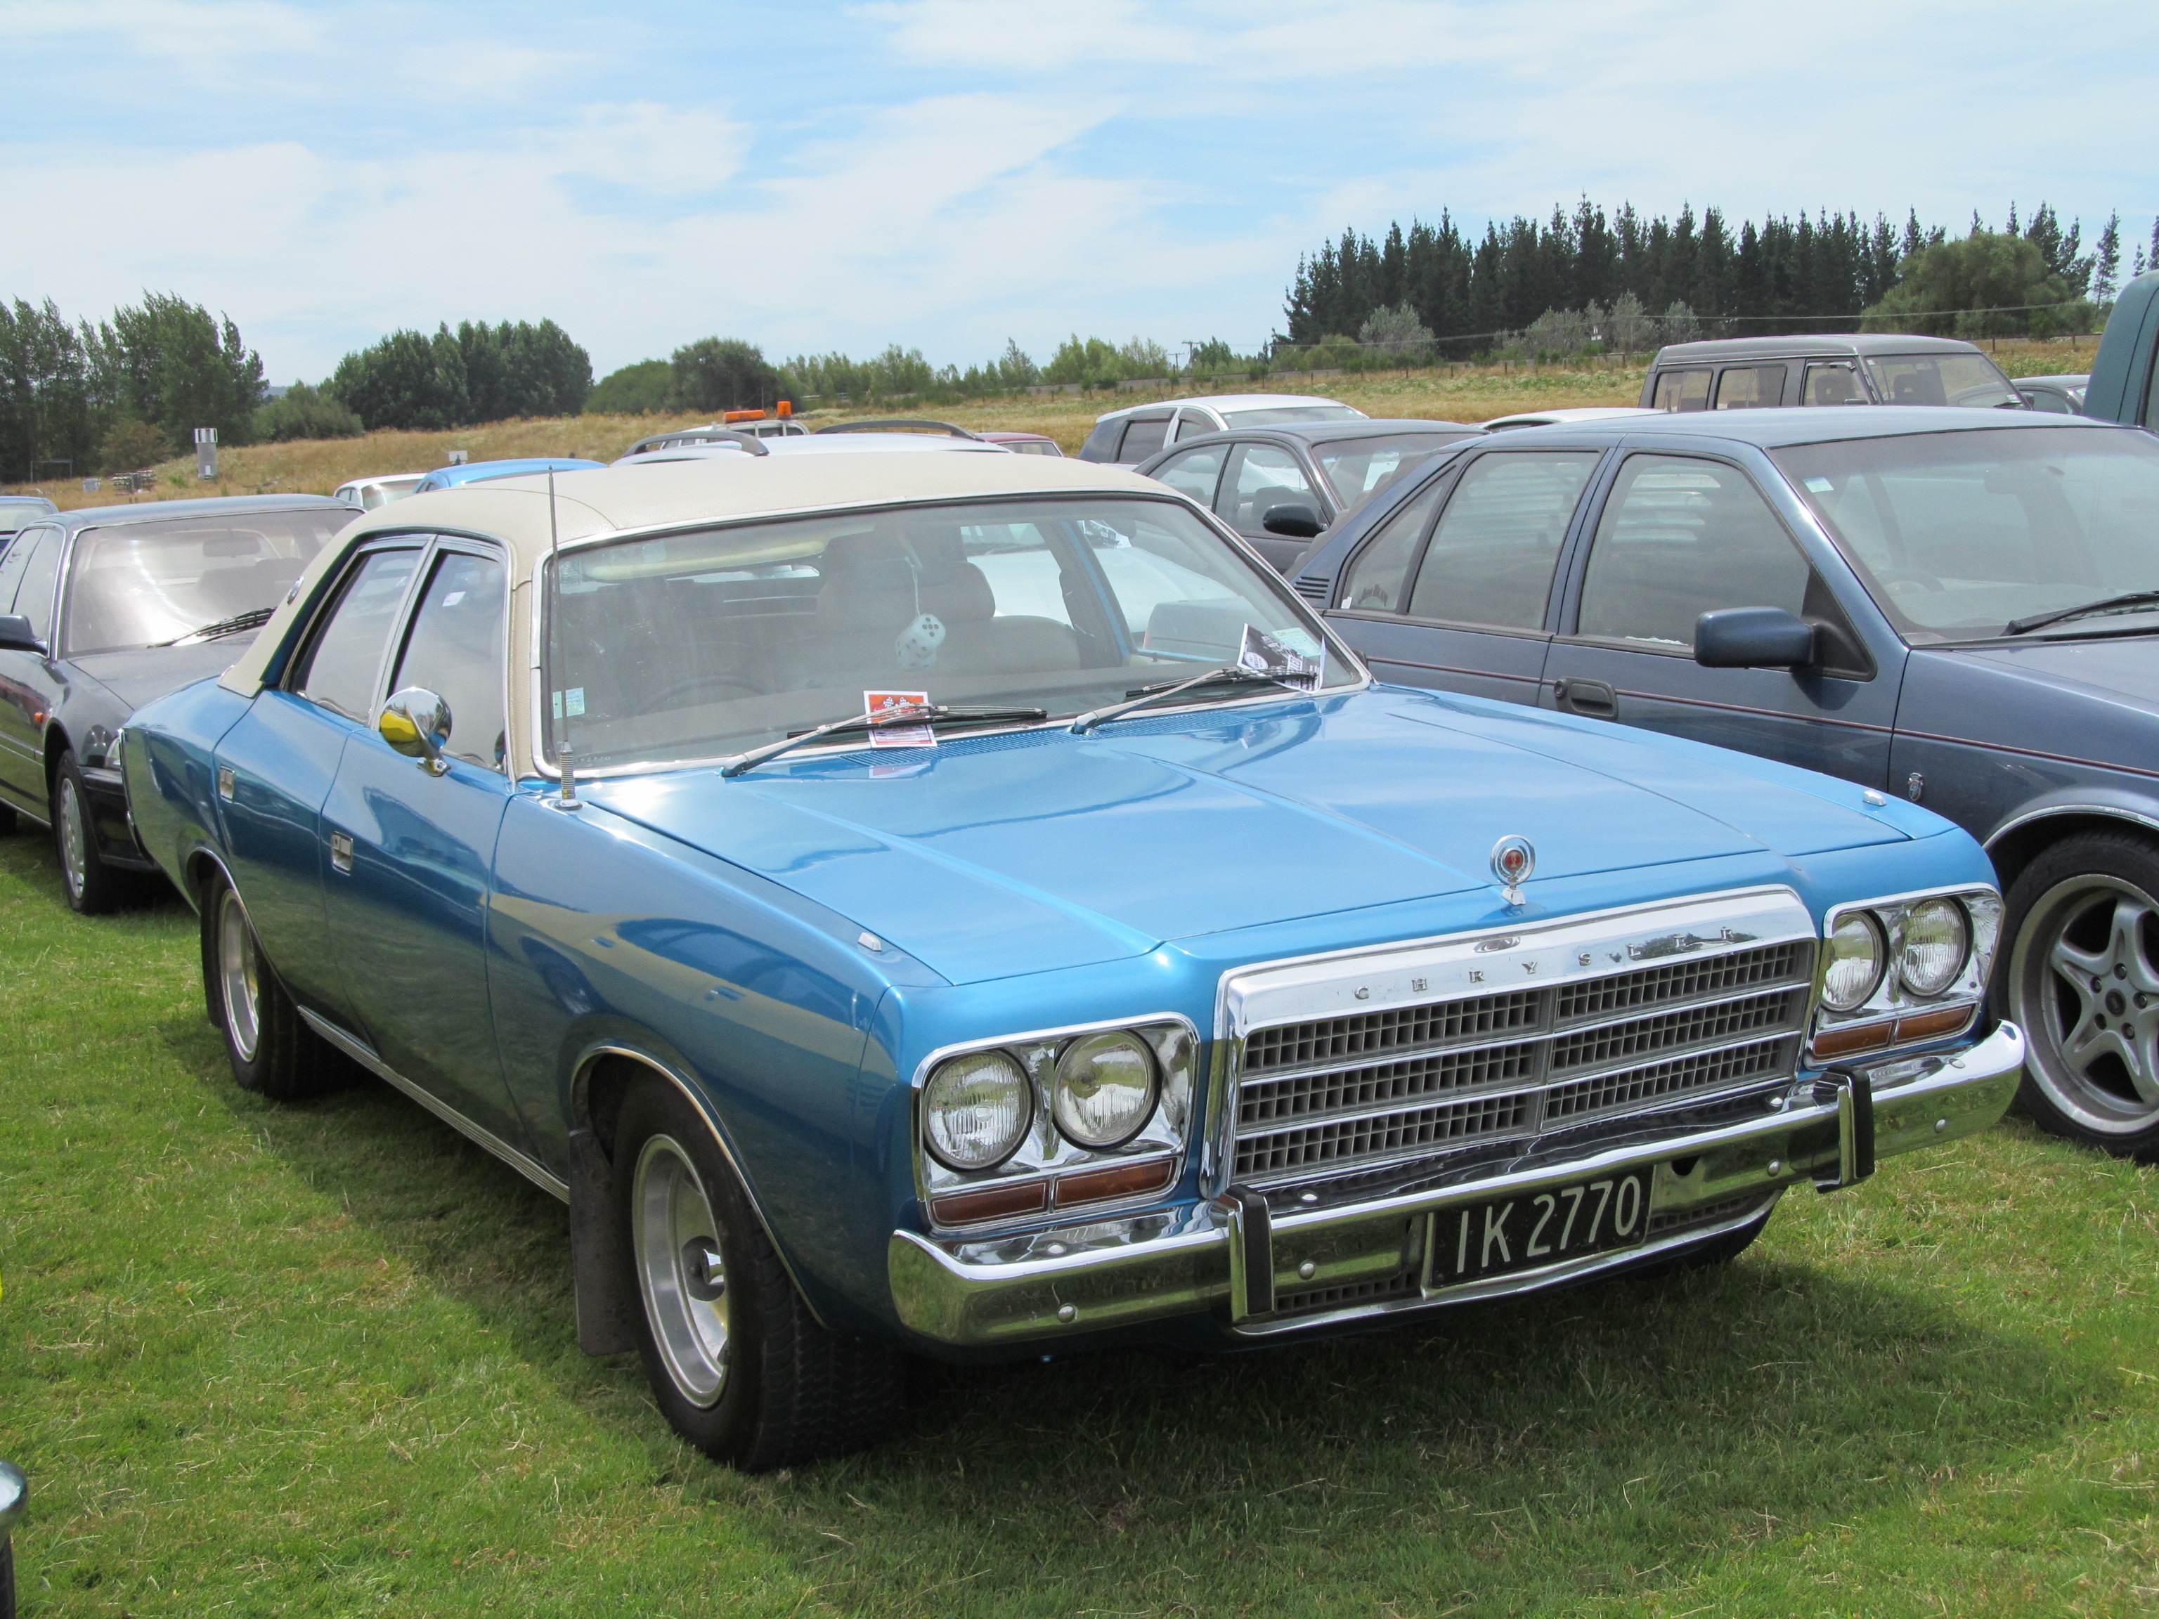
[[[1140,1123],[1110,1146],[1086,1146],[1071,1140],[1056,1118],[1056,1069],[1060,1058],[1084,1038],[1097,1034],[1129,1034],[1153,1058],[1153,1094]],[[954,1170],[931,1151],[928,1088],[937,1073],[956,1058],[1000,1051],[1010,1058],[1034,1092],[1030,1125],[1019,1146],[987,1170]],[[1157,1202],[1183,1176],[1200,1086],[1200,1034],[1192,1019],[1179,1012],[1069,1023],[997,1038],[961,1040],[937,1047],[913,1071],[913,1138],[915,1189],[933,1228],[976,1228],[1041,1222],[1056,1215],[1084,1213]],[[1159,1168],[1159,1176],[1153,1170]],[[1129,1194],[1103,1196],[1105,1170],[1131,1170],[1131,1183],[1144,1185]],[[1088,1181],[1084,1176],[1092,1174]],[[1116,1176],[1112,1176],[1116,1179]],[[1071,1181],[1071,1196],[1060,1185]],[[1086,1187],[1086,1196],[1080,1189]],[[965,1215],[956,1213],[967,1209]],[[980,1213],[978,1213],[980,1211]]]

